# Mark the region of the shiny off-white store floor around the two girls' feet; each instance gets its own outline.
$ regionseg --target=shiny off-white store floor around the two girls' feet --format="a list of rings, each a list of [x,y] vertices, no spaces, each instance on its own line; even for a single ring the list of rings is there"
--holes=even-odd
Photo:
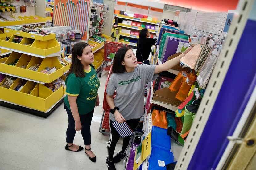
[[[91,125],[92,150],[97,162],[92,163],[84,151],[65,150],[67,113],[63,104],[47,119],[0,106],[0,167],[1,170],[75,170],[107,169],[107,140],[109,136],[99,133],[103,112],[103,94],[107,78],[103,72],[99,89],[100,105],[95,108]],[[75,144],[83,146],[81,132],[77,132]],[[122,148],[122,140],[116,152]],[[122,161],[116,165],[123,169]]]

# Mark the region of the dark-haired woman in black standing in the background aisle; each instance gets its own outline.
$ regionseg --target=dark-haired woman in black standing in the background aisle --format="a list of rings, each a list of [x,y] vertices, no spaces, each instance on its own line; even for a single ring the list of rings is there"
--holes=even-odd
[[[150,34],[147,28],[140,30],[137,43],[136,57],[138,62],[149,64],[148,57],[151,52],[152,45],[155,45],[157,39],[149,38]]]

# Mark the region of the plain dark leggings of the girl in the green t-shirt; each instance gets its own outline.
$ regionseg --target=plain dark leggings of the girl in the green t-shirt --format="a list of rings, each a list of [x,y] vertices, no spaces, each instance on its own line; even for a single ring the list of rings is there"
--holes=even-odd
[[[65,103],[64,103],[64,108],[66,109],[66,111],[68,113],[68,129],[67,129],[66,142],[71,144],[71,143],[73,143],[74,137],[76,134],[75,120],[72,115],[72,112],[68,109],[68,107],[65,105]],[[80,121],[82,124],[81,133],[82,133],[85,145],[91,144],[91,122],[92,122],[92,118],[93,118],[93,112],[94,112],[94,109],[85,115],[79,115]]]

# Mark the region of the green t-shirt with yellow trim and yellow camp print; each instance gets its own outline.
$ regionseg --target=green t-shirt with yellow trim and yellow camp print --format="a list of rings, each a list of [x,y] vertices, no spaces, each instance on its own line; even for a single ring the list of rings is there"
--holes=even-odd
[[[68,95],[77,96],[76,103],[78,113],[81,115],[87,114],[95,107],[100,81],[97,77],[95,69],[90,66],[89,71],[85,71],[85,77],[76,77],[71,73],[66,78],[65,84],[67,86],[67,95],[64,98],[64,103],[70,109],[68,102]]]

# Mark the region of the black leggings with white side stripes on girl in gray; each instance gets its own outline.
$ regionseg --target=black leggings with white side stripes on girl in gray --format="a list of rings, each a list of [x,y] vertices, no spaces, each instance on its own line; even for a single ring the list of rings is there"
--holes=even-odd
[[[110,113],[111,114],[111,113]],[[140,118],[138,119],[130,119],[126,121],[127,125],[134,131],[138,124],[139,124]],[[109,119],[109,127],[110,127],[110,136],[109,136],[109,142],[108,142],[108,159],[113,160],[114,151],[116,148],[116,144],[120,138],[120,135],[116,131],[116,129],[112,125],[113,121]],[[123,139],[123,146],[121,153],[126,153],[126,150],[128,149],[128,146],[131,142],[131,136],[127,136]]]

